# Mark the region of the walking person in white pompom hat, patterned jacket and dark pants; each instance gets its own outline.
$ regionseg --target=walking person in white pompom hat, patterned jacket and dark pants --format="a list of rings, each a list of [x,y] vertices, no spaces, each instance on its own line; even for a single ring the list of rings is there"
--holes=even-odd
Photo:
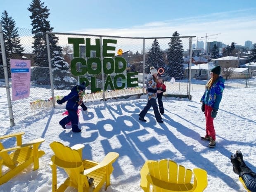
[[[144,119],[145,115],[147,114],[147,111],[150,109],[152,106],[154,109],[154,114],[156,117],[156,121],[159,123],[164,123],[162,121],[162,117],[158,111],[158,107],[156,104],[156,95],[157,93],[161,93],[161,90],[157,90],[156,88],[156,76],[158,72],[154,67],[150,67],[150,74],[147,77],[147,105],[144,107],[144,109],[140,112],[139,114],[139,120],[140,121],[147,121]]]

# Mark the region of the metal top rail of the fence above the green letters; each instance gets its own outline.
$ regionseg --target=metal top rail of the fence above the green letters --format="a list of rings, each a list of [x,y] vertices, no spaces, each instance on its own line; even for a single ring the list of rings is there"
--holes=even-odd
[[[114,37],[114,38],[128,38],[128,39],[164,39],[164,38],[193,38],[197,36],[177,36],[177,37],[123,37],[123,36],[104,36],[104,35],[92,35],[92,34],[82,34],[82,33],[60,33],[47,31],[46,34],[58,34],[58,35],[72,35],[72,36],[94,36],[94,37]]]

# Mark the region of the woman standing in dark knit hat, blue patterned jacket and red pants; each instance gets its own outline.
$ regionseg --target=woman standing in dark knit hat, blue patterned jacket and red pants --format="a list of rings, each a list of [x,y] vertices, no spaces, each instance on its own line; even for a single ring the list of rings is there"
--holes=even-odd
[[[206,119],[206,135],[201,140],[210,141],[208,147],[216,146],[216,133],[213,125],[213,119],[216,118],[219,109],[222,93],[225,88],[222,76],[220,76],[220,66],[211,69],[211,79],[206,83],[206,90],[200,102],[202,102],[201,110],[205,114]]]

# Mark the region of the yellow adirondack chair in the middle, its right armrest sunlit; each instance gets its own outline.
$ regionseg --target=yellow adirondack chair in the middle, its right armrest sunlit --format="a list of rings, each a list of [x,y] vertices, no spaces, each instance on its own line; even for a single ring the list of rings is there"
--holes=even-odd
[[[84,145],[73,147],[64,146],[60,142],[50,144],[55,155],[52,156],[52,192],[64,192],[67,187],[75,187],[78,192],[98,192],[105,184],[105,190],[110,185],[110,175],[114,168],[112,164],[119,157],[116,152],[109,152],[104,159],[97,163],[88,159],[82,159]],[[63,168],[69,176],[62,185],[57,187],[57,167]],[[88,178],[93,178],[89,185]]]

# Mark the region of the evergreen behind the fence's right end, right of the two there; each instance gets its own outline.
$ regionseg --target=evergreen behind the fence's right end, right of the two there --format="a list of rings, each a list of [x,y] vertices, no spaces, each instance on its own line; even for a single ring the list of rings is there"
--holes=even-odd
[[[183,79],[184,78],[184,66],[183,66],[183,45],[181,43],[180,38],[176,38],[180,36],[177,31],[173,33],[173,37],[171,38],[170,42],[168,43],[169,49],[167,53],[168,59],[168,74],[171,77],[176,79]]]

